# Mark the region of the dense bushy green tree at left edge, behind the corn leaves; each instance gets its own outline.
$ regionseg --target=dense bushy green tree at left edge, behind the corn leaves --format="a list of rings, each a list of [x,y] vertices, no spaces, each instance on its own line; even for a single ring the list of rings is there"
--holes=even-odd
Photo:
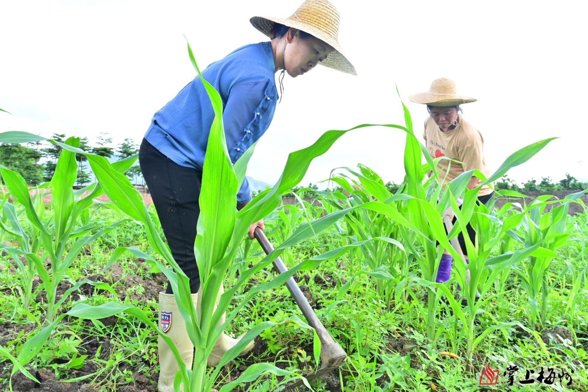
[[[45,165],[38,165],[41,157],[40,152],[20,144],[0,145],[0,164],[19,173],[29,185],[43,182]]]

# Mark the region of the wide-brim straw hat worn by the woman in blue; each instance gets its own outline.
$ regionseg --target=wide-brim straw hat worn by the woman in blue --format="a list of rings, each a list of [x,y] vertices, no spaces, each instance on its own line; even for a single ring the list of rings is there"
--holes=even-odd
[[[357,75],[339,43],[339,12],[326,0],[306,0],[286,19],[253,16],[249,22],[269,38],[272,38],[272,28],[276,23],[307,32],[334,48],[320,65]]]

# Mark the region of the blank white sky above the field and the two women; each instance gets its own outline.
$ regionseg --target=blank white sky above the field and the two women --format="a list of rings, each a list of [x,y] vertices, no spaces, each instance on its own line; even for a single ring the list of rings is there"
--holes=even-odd
[[[12,1],[0,5],[0,131],[137,143],[153,113],[201,69],[266,38],[251,16],[286,18],[300,0]],[[490,171],[537,140],[559,136],[512,170],[526,180],[566,172],[588,178],[585,2],[348,1],[339,39],[359,76],[318,67],[292,79],[260,139],[248,175],[274,183],[289,152],[329,129],[403,124],[395,85],[422,133],[425,105],[408,102],[440,77],[478,102],[464,116],[485,139]],[[278,74],[276,74],[277,76]],[[350,132],[310,166],[303,185],[338,166],[364,163],[400,182],[405,136],[389,128]]]

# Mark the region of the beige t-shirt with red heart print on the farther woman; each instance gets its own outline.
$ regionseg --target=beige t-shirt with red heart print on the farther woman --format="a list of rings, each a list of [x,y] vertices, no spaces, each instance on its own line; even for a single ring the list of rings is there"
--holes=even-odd
[[[439,172],[439,178],[445,177],[445,183],[455,179],[463,172],[467,172],[467,170],[478,169],[486,177],[490,175],[484,160],[484,139],[482,134],[462,116],[458,116],[455,129],[448,132],[442,132],[432,118],[427,118],[423,138],[425,138],[426,148],[433,158],[446,156],[463,162],[463,165],[451,162],[449,173],[445,177],[449,160],[442,159],[439,161],[437,167],[442,169]],[[482,182],[478,180],[476,186],[479,186],[480,183]],[[490,193],[492,193],[492,189],[485,185],[480,189],[478,196],[489,195]]]

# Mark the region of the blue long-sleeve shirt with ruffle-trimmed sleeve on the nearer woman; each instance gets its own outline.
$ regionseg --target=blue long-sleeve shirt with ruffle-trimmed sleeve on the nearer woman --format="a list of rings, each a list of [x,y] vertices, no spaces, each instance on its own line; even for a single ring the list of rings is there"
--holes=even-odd
[[[226,145],[233,163],[272,122],[278,97],[274,75],[269,41],[242,46],[202,71],[222,99]],[[153,115],[145,139],[178,165],[202,170],[214,116],[208,94],[196,76]],[[237,202],[249,200],[251,192],[245,179]]]

